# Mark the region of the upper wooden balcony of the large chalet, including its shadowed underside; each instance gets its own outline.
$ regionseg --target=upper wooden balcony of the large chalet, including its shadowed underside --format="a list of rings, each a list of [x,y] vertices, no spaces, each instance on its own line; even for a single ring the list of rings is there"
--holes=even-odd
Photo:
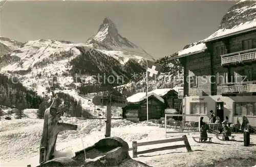
[[[222,66],[244,66],[256,63],[256,49],[243,50],[221,55]]]

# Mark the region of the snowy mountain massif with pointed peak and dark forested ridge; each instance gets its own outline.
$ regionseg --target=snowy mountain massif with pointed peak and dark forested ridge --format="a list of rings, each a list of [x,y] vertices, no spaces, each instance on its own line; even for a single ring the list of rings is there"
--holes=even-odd
[[[99,34],[103,30],[107,31],[101,40]],[[101,78],[103,75],[116,76],[115,84],[125,83],[132,79],[132,74],[145,71],[145,59],[154,60],[142,48],[119,35],[115,24],[108,18],[86,43],[51,39],[22,43],[1,37],[0,46],[3,50],[0,55],[1,73],[18,78],[26,88],[41,96],[51,95],[50,91],[54,90],[70,94],[77,101],[81,100],[82,106],[91,112],[96,109],[90,103],[93,96],[79,96],[78,87],[99,84],[98,75]],[[119,80],[119,76],[124,79]],[[103,84],[108,84],[105,81]],[[104,110],[101,107],[97,113]]]

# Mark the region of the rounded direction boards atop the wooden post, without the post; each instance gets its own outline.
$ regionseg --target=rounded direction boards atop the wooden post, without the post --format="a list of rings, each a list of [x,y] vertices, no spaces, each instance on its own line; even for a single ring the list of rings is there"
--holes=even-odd
[[[108,96],[95,96],[92,100],[94,105],[109,105],[110,99]],[[127,100],[123,96],[112,96],[111,97],[111,106],[125,107],[127,105]]]

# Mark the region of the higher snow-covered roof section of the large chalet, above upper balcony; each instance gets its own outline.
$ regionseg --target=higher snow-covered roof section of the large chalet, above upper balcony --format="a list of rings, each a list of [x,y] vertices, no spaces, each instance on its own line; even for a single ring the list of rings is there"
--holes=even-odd
[[[217,40],[220,38],[228,37],[234,34],[240,34],[248,31],[252,31],[256,29],[256,19],[252,21],[247,21],[245,23],[241,23],[237,26],[232,27],[232,29],[220,29],[214,34],[211,34],[208,38],[204,40],[204,42],[209,42],[213,40]]]

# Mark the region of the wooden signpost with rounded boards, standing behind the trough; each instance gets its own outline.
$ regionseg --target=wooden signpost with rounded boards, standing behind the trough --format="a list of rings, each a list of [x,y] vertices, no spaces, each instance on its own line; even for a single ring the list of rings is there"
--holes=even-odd
[[[111,135],[111,107],[125,107],[127,105],[127,100],[123,96],[114,96],[109,93],[108,96],[95,96],[92,100],[94,105],[106,106],[106,132],[105,137],[110,137]]]

